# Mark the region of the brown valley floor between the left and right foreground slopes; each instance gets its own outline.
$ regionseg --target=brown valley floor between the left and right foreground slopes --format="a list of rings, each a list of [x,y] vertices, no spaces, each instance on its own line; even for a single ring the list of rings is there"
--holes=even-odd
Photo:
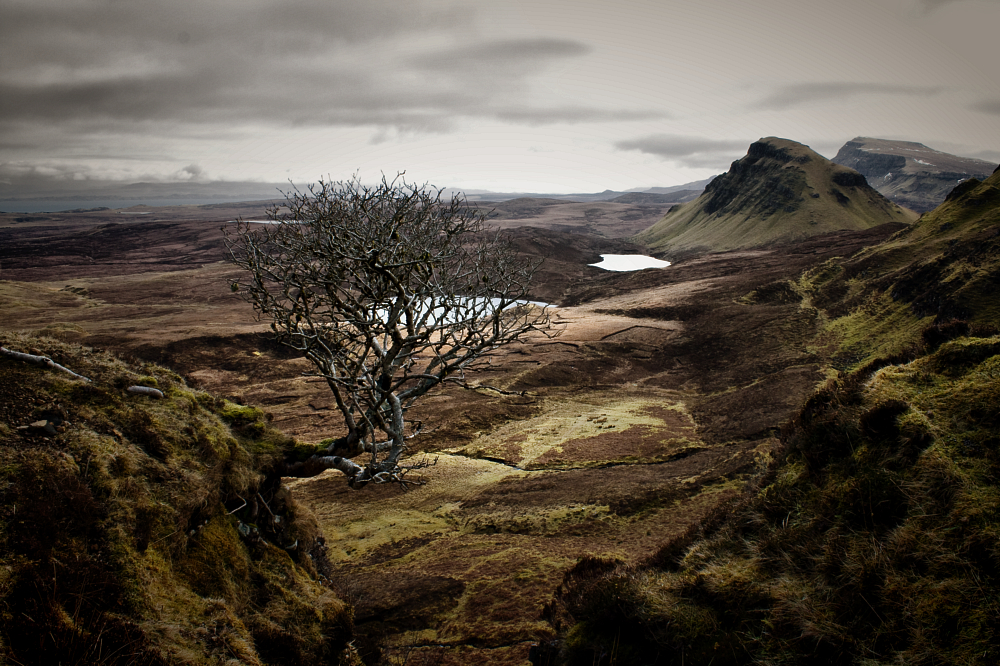
[[[127,236],[100,220],[36,235],[19,223],[14,265],[14,227],[0,227],[0,331],[156,361],[262,406],[295,437],[335,436],[325,385],[229,291],[222,222],[129,222]],[[558,335],[506,349],[498,370],[472,379],[523,394],[429,396],[418,416],[432,427],[413,447],[436,461],[426,485],[288,482],[326,532],[358,645],[411,664],[526,663],[530,643],[553,634],[545,604],[579,558],[649,557],[769,458],[829,360],[812,344],[816,311],[782,281],[891,231],[612,274],[586,264],[625,241],[518,229],[519,247],[546,258],[536,291],[562,304]],[[105,240],[86,249],[87,234]]]

